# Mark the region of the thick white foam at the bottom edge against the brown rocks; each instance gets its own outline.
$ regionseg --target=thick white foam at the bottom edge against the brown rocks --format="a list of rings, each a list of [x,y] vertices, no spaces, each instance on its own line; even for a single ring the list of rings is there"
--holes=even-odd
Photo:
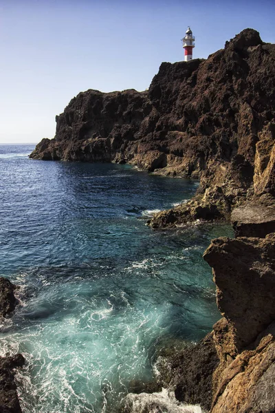
[[[175,399],[174,392],[162,389],[159,393],[129,393],[124,398],[124,403],[132,413],[203,413],[199,405],[186,405]]]

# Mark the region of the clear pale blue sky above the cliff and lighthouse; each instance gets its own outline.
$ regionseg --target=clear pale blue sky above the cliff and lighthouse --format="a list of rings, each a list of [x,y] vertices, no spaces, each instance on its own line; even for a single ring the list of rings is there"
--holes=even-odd
[[[53,138],[87,89],[149,87],[163,61],[207,58],[245,28],[275,43],[275,0],[0,0],[0,144]]]

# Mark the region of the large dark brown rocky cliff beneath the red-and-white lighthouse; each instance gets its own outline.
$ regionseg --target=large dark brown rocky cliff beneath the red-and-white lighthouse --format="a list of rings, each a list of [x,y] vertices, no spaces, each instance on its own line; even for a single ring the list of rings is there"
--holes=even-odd
[[[275,45],[246,29],[206,60],[162,63],[146,92],[81,92],[30,157],[200,178],[195,199],[155,216],[153,228],[228,218],[253,196],[275,195],[274,118]]]

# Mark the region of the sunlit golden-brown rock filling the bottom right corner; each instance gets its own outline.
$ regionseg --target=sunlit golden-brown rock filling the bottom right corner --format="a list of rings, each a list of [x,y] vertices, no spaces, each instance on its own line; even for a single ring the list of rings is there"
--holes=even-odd
[[[221,372],[211,413],[275,411],[275,342],[265,336],[256,350],[245,350]]]

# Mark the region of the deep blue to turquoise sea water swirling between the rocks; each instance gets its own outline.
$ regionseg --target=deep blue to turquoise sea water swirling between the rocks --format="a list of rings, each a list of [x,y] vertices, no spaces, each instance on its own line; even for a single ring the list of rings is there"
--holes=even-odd
[[[30,160],[32,149],[0,146],[0,275],[21,286],[0,351],[27,359],[23,413],[109,412],[132,379],[151,379],[159,346],[197,341],[217,321],[201,255],[232,232],[145,225],[190,198],[194,180]]]

